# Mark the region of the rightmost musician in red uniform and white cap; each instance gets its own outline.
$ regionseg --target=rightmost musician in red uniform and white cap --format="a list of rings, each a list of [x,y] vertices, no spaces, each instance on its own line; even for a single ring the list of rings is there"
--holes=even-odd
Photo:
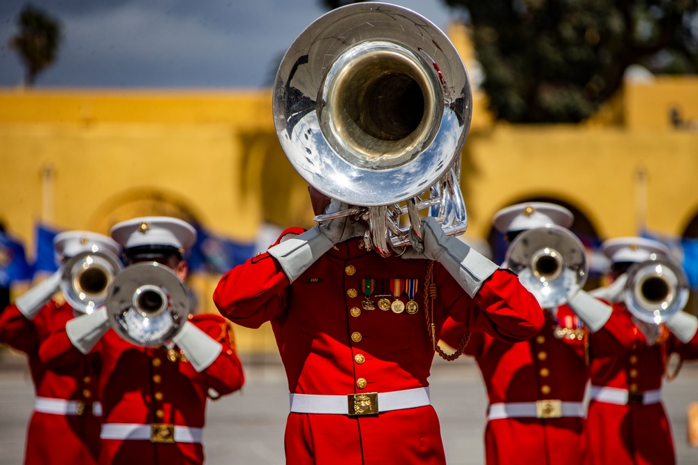
[[[632,326],[632,349],[623,356],[594,360],[588,435],[594,464],[673,465],[674,441],[662,405],[662,381],[667,358],[698,358],[698,319],[679,312],[665,323],[641,321],[625,304],[625,274],[629,266],[652,257],[667,257],[663,244],[646,238],[614,238],[602,244],[611,259],[611,286],[599,295]]]

